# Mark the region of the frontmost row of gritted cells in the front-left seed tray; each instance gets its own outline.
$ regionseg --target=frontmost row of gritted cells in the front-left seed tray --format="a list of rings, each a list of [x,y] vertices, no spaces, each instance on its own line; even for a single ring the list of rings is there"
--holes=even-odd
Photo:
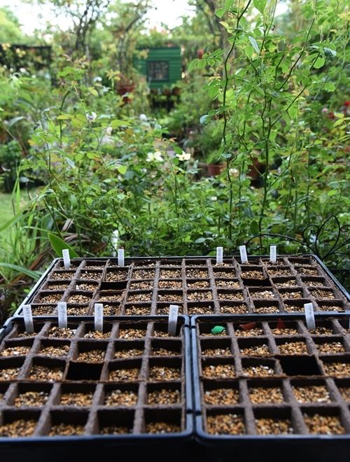
[[[185,428],[186,416],[181,409],[33,409],[8,410],[0,415],[0,438],[180,433]]]

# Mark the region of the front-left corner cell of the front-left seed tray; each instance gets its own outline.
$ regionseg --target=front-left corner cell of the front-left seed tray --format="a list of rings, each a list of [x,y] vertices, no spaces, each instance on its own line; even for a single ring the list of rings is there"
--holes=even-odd
[[[33,435],[36,423],[40,416],[39,411],[4,411],[0,425],[0,437],[28,437]]]

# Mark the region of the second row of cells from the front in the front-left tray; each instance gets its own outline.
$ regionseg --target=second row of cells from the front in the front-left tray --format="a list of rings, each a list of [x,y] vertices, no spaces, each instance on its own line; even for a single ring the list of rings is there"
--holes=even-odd
[[[48,382],[0,382],[0,407],[23,409],[32,407],[179,407],[183,403],[183,384],[89,384]]]

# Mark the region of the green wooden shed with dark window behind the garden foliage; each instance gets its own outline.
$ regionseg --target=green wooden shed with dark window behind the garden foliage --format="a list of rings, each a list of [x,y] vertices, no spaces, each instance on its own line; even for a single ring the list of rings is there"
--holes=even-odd
[[[170,87],[181,79],[179,47],[142,48],[134,55],[134,67],[146,76],[150,88]]]

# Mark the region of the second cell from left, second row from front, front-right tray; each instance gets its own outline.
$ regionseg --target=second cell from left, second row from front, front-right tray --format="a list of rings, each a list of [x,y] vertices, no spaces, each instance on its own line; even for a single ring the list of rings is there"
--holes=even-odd
[[[248,380],[249,399],[253,405],[281,404],[284,402],[280,380]]]

